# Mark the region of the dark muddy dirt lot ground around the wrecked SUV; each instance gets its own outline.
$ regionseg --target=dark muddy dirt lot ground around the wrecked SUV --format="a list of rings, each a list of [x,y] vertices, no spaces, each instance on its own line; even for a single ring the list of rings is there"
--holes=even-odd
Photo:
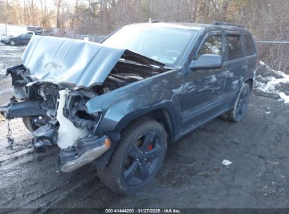
[[[20,63],[23,49],[0,45],[0,66]],[[0,104],[11,93],[10,77],[1,79]],[[155,181],[121,197],[101,184],[93,165],[56,172],[57,149],[34,153],[19,119],[11,121],[15,146],[8,149],[0,118],[0,208],[289,208],[288,127],[289,105],[253,94],[242,122],[217,118],[169,145]]]

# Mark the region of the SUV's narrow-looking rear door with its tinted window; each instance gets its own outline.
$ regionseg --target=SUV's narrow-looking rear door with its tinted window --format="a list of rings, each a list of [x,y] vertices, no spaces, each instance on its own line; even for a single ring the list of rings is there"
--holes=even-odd
[[[240,32],[226,32],[226,84],[225,99],[226,106],[232,105],[244,77],[247,75],[248,63],[245,58],[245,50]]]

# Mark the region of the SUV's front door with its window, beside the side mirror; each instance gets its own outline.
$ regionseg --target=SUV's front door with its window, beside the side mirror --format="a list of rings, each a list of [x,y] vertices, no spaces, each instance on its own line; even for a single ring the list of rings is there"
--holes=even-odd
[[[224,42],[224,35],[220,30],[208,32],[191,60],[197,60],[203,54],[219,55],[224,59]],[[191,130],[221,111],[226,76],[226,65],[217,69],[187,69],[184,73],[182,102],[183,132]]]

